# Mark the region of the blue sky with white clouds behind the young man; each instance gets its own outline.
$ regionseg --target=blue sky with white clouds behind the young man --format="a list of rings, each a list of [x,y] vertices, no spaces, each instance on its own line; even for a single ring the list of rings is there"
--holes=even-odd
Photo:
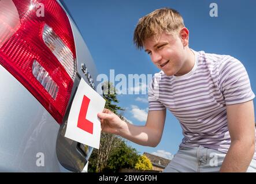
[[[217,3],[218,17],[210,17],[210,3]],[[161,7],[180,12],[190,30],[190,48],[232,55],[246,67],[251,87],[256,93],[256,21],[254,0],[65,0],[91,52],[99,74],[154,74],[158,69],[150,57],[133,45],[133,30],[140,17]],[[143,84],[142,84],[143,86]],[[124,116],[135,125],[144,125],[148,104],[147,95],[120,95]],[[254,100],[255,104],[255,100]],[[129,143],[143,152],[161,156],[175,154],[183,138],[179,121],[167,113],[161,143],[155,148]]]

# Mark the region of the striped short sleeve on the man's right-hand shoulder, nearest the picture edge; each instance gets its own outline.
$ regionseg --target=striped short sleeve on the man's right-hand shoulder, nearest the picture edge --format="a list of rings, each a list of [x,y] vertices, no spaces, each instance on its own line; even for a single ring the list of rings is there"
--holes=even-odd
[[[246,68],[234,57],[228,56],[221,63],[219,86],[226,105],[250,101],[255,97],[251,90]]]

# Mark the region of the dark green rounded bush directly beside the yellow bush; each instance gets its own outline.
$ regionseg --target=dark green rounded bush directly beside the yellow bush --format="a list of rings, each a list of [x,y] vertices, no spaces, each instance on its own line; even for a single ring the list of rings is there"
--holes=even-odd
[[[135,168],[135,164],[138,162],[139,154],[135,150],[128,146],[125,141],[121,141],[119,147],[117,147],[107,160],[107,166],[105,172],[118,172],[120,168]]]

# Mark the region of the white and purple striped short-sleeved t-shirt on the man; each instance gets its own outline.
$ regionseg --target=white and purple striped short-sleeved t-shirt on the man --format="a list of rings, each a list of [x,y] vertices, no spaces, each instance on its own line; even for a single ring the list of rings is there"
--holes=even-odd
[[[169,109],[179,120],[180,146],[227,153],[231,144],[226,105],[252,100],[243,64],[232,56],[195,52],[195,64],[182,76],[155,74],[149,86],[149,110]],[[254,154],[256,159],[256,154]]]

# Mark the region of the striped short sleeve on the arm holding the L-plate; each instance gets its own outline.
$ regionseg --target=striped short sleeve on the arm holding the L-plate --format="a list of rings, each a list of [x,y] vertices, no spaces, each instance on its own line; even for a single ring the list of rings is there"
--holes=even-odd
[[[165,106],[159,101],[157,78],[154,76],[148,87],[149,110],[165,110]]]

